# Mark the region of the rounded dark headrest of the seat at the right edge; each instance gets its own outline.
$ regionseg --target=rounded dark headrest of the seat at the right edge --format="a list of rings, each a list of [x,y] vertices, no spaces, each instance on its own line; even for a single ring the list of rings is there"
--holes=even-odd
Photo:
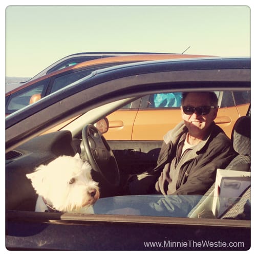
[[[251,155],[251,118],[240,117],[234,124],[232,131],[234,150],[241,155]]]

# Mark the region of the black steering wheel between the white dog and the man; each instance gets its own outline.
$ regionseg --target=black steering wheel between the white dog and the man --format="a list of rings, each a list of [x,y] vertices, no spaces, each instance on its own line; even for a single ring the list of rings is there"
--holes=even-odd
[[[86,157],[95,172],[111,186],[119,186],[120,173],[116,158],[105,138],[92,124],[82,129],[82,143]]]

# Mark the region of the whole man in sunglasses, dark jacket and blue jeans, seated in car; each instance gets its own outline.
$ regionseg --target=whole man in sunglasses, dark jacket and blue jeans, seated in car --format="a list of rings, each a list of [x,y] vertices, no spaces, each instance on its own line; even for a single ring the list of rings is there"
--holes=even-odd
[[[183,121],[164,136],[157,166],[129,183],[129,194],[159,195],[110,199],[108,214],[186,217],[215,182],[217,168],[234,158],[230,139],[214,122],[216,94],[184,93],[181,105]],[[102,208],[96,204],[95,213]]]

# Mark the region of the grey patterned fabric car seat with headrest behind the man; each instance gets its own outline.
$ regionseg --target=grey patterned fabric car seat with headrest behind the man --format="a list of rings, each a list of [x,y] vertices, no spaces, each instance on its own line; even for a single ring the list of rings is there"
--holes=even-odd
[[[250,148],[251,148],[251,121],[249,116],[240,117],[234,124],[231,141],[233,143],[234,151],[238,155],[228,164],[226,167],[227,172],[229,170],[242,170],[250,172]],[[198,204],[189,212],[189,218],[207,218],[209,217],[209,211],[205,211],[207,208],[211,208],[212,199],[214,196],[215,183],[206,191],[203,198]],[[211,212],[211,218],[215,218]],[[199,217],[200,216],[200,217]],[[228,208],[220,217],[221,219],[248,219],[250,218],[250,187],[248,187],[241,198]]]

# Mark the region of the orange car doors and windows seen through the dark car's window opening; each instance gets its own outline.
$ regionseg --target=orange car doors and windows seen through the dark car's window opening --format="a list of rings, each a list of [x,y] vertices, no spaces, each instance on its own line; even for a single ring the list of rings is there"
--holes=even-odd
[[[245,116],[250,104],[250,92],[215,92],[219,111],[215,122],[231,136],[232,127]],[[153,94],[142,97],[110,114],[107,140],[162,140],[181,119],[181,93]],[[150,125],[149,125],[150,124]]]

